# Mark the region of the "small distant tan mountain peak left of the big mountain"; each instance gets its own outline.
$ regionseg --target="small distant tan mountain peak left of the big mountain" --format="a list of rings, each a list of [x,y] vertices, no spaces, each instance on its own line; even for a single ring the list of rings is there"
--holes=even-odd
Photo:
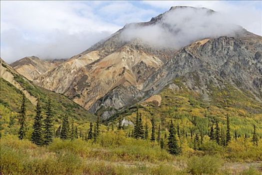
[[[33,80],[47,70],[61,64],[65,59],[42,60],[36,56],[26,56],[10,64],[18,73]]]

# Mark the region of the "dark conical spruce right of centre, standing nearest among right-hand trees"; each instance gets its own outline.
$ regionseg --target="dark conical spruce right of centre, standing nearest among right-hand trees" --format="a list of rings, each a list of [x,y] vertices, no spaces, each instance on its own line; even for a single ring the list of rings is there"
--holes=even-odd
[[[169,126],[168,151],[170,154],[174,154],[174,155],[178,155],[180,152],[178,144],[177,144],[177,140],[175,137],[175,129],[174,129],[172,120]]]

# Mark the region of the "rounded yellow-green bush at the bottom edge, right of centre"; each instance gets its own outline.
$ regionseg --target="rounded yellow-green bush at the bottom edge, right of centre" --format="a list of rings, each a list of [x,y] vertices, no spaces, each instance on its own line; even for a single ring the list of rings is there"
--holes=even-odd
[[[191,174],[216,174],[222,164],[223,161],[217,156],[193,156],[188,160],[187,168]]]

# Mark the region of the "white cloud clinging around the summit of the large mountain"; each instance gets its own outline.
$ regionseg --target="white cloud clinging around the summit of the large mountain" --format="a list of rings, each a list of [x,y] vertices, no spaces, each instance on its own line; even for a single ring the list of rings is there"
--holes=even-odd
[[[129,24],[121,33],[123,40],[140,38],[157,47],[180,48],[192,41],[221,35],[233,35],[241,27],[207,8],[175,7],[155,24]]]

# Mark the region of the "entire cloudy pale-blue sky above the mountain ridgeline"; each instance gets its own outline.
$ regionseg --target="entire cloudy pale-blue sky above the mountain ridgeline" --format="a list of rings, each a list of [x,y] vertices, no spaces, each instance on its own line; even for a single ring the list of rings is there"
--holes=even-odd
[[[68,58],[126,23],[148,21],[171,6],[206,7],[262,35],[262,1],[0,1],[0,56]]]

